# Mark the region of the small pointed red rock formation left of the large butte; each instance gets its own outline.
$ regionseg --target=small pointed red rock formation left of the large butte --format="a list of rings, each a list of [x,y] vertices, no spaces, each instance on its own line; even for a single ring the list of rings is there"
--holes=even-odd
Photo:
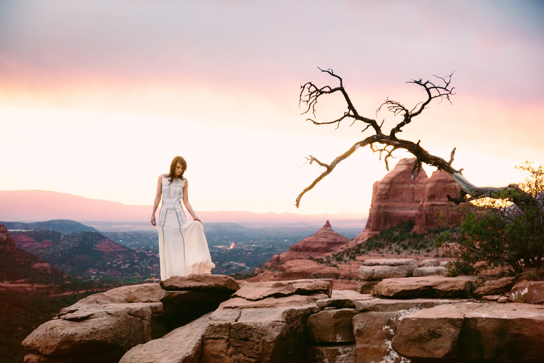
[[[339,246],[348,243],[349,241],[348,238],[333,231],[331,224],[327,221],[316,233],[312,234],[310,237],[301,239],[298,243],[292,245],[289,251],[272,256],[270,262],[277,264],[293,259],[315,257],[336,250]]]

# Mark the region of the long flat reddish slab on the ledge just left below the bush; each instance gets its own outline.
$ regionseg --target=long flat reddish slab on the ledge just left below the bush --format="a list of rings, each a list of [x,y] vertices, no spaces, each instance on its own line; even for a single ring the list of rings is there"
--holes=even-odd
[[[478,276],[424,276],[385,279],[374,286],[374,295],[393,299],[467,298]]]

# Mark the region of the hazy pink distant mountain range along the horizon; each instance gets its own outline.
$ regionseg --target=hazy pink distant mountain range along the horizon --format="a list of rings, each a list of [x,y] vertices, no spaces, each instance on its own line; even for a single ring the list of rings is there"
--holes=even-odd
[[[35,222],[70,219],[100,231],[135,229],[151,231],[157,229],[149,221],[151,210],[152,205],[127,205],[69,193],[44,190],[0,191],[0,220],[4,221]],[[158,213],[157,210],[157,218]],[[198,211],[197,213],[203,223],[233,222],[245,227],[320,227],[329,220],[333,226],[360,228],[361,231],[366,225],[368,215],[363,213],[304,215],[249,211]],[[190,215],[188,217],[190,220]]]

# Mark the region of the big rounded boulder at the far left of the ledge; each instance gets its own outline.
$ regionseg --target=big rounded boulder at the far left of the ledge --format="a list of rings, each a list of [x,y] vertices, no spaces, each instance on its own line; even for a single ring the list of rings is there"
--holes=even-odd
[[[89,295],[22,341],[34,353],[27,360],[118,361],[133,346],[164,334],[163,294],[158,283],[146,283]]]

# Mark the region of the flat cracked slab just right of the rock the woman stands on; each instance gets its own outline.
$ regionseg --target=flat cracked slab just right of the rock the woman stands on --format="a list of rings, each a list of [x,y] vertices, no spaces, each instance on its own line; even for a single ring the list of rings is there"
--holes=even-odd
[[[240,288],[232,294],[233,298],[246,300],[261,300],[265,298],[279,298],[288,295],[308,295],[325,293],[331,297],[332,279],[302,279],[289,281],[255,282]]]

